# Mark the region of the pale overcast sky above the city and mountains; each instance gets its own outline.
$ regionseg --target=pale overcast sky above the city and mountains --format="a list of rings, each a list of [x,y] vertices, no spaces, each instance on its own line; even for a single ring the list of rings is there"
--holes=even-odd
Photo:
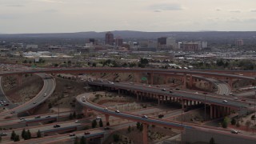
[[[0,33],[255,31],[256,0],[0,0]]]

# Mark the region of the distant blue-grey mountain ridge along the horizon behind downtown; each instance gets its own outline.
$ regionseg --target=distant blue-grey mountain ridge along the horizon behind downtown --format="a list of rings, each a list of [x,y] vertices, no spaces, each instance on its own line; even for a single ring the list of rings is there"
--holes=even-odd
[[[78,33],[53,33],[53,34],[0,34],[0,38],[105,38],[104,32],[78,32]],[[133,30],[111,31],[114,38],[252,38],[256,31],[198,31],[198,32],[143,32]]]

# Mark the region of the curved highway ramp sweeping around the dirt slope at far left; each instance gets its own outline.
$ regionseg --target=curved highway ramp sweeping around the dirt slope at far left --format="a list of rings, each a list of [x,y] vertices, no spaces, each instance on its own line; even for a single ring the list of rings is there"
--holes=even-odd
[[[12,116],[12,115],[19,114],[19,113],[25,112],[27,110],[30,110],[30,109],[38,106],[39,104],[41,104],[47,98],[50,97],[50,95],[54,92],[54,89],[56,86],[55,79],[54,78],[46,79],[45,74],[38,74],[38,75],[40,77],[42,77],[43,81],[44,81],[42,90],[34,98],[32,98],[29,102],[26,102],[20,106],[17,106],[11,110],[0,113],[1,118],[7,117],[7,116]],[[49,77],[49,76],[47,76],[47,77]],[[44,96],[44,94],[46,94],[46,96]],[[34,102],[35,102],[35,104],[34,104]],[[10,114],[12,112],[14,112],[14,113]]]

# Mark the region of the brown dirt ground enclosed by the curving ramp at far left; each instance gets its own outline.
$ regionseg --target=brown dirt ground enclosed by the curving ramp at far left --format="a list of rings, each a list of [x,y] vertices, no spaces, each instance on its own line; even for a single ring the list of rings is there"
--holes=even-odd
[[[2,89],[11,102],[27,102],[42,90],[43,81],[38,75],[23,75],[22,85],[18,86],[17,78],[4,76]]]

